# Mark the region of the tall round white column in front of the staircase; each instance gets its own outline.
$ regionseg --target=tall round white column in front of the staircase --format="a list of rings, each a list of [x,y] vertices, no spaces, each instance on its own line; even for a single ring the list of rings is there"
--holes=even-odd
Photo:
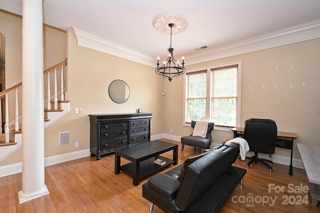
[[[42,0],[22,3],[22,191],[19,204],[47,195],[44,184]]]

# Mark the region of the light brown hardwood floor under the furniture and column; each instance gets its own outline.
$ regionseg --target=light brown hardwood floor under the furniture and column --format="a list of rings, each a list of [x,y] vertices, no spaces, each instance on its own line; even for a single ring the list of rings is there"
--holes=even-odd
[[[183,152],[179,146],[178,165],[184,159],[200,153],[200,150],[185,146]],[[172,157],[172,151],[164,156]],[[246,169],[245,161],[236,161],[233,165]],[[121,165],[127,163],[121,159]],[[163,170],[170,170],[172,166]],[[238,186],[224,203],[221,213],[319,213],[311,205],[309,193],[291,193],[293,188],[308,186],[304,170],[294,168],[294,176],[288,175],[288,166],[274,164],[273,172],[260,164],[253,164],[243,178],[243,185]],[[149,202],[142,198],[142,180],[134,187],[132,178],[121,172],[114,174],[114,154],[103,155],[101,160],[85,157],[61,164],[45,167],[45,184],[49,195],[18,204],[18,191],[22,189],[21,173],[0,178],[0,212],[1,213],[146,213]],[[275,187],[284,186],[283,193],[274,190],[268,192],[268,184]],[[290,186],[289,186],[290,187]],[[305,197],[306,196],[306,197]],[[246,201],[253,198],[253,202]],[[267,198],[269,199],[268,202]],[[285,200],[287,198],[287,200]],[[300,199],[302,198],[302,199]],[[304,198],[304,200],[303,200]],[[274,205],[271,200],[274,201]],[[262,204],[262,200],[265,201]],[[298,202],[302,204],[298,204]],[[214,201],[212,201],[214,202]],[[287,202],[288,204],[285,204]],[[305,204],[308,202],[308,204]],[[163,213],[156,206],[154,213]]]

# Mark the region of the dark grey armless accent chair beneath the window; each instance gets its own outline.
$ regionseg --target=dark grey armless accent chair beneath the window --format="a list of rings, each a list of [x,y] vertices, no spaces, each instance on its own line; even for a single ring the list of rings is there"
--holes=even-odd
[[[195,122],[196,121],[191,121],[191,127],[193,129],[195,126]],[[200,136],[192,136],[192,134],[181,137],[181,151],[183,150],[184,145],[193,146],[194,149],[195,147],[201,148],[201,153],[203,152],[204,149],[210,148],[211,139],[212,139],[211,131],[213,130],[213,127],[214,127],[214,123],[208,123],[208,129],[207,129],[205,138],[202,138]]]

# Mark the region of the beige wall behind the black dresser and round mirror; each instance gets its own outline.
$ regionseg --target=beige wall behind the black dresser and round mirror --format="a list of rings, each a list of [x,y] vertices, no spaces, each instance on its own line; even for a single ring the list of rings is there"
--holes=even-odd
[[[153,113],[151,135],[162,133],[163,80],[154,68],[108,55],[76,44],[67,32],[67,85],[71,111],[45,130],[45,157],[89,149],[89,114],[135,113],[138,108]],[[108,95],[109,84],[125,81],[130,95],[122,104]],[[82,108],[82,114],[74,114]],[[59,132],[70,132],[70,145],[58,146]],[[74,148],[79,142],[79,148]]]

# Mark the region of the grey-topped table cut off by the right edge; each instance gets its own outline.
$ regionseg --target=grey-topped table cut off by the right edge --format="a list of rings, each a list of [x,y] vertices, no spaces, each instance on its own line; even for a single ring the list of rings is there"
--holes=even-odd
[[[309,193],[312,198],[312,206],[316,207],[320,201],[320,146],[296,144],[305,173],[309,180]]]

